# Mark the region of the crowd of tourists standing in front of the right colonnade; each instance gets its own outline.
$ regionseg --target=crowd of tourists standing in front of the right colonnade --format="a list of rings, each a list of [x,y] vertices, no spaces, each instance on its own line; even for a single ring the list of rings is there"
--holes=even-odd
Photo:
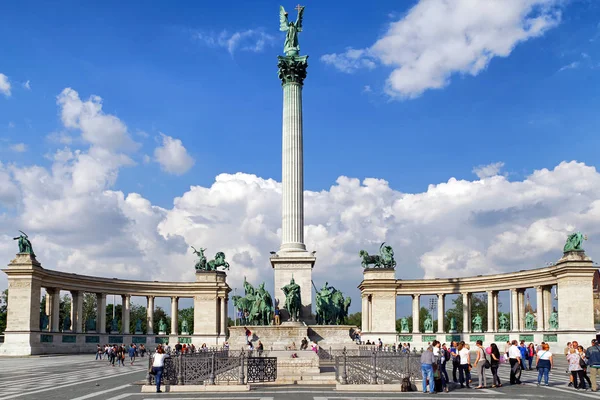
[[[400,346],[398,346],[400,347]],[[403,346],[404,347],[404,346]],[[439,341],[433,341],[421,354],[421,374],[423,377],[423,393],[429,388],[430,393],[448,391],[450,383],[446,370],[448,361],[452,362],[452,383],[460,384],[461,388],[471,388],[471,371],[477,372],[477,386],[475,389],[487,387],[487,370],[491,372],[491,387],[501,387],[502,382],[498,375],[501,364],[510,365],[510,384],[521,385],[521,372],[537,369],[537,385],[549,386],[550,371],[554,368],[556,354],[550,351],[550,345],[542,342],[540,345],[520,343],[517,340],[506,342],[504,351],[500,352],[498,345],[492,343],[484,347],[478,340],[474,360],[469,344],[465,342],[452,342],[450,346]],[[585,349],[578,342],[570,342],[564,350],[568,362],[569,387],[576,390],[597,391],[596,377],[600,368],[600,343],[596,339]],[[588,376],[589,372],[589,376]],[[587,385],[586,385],[587,384]]]

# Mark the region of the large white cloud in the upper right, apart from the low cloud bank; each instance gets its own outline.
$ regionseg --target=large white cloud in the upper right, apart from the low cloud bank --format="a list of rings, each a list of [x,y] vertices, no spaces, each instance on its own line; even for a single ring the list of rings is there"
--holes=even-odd
[[[521,42],[543,35],[561,20],[560,0],[420,0],[366,49],[328,54],[322,60],[344,72],[392,72],[386,91],[414,98],[447,86],[453,74],[477,75],[494,57],[507,57]]]

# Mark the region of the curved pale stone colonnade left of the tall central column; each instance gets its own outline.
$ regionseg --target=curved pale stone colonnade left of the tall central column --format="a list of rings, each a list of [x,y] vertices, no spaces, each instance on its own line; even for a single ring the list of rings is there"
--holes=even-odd
[[[143,282],[92,277],[42,268],[31,254],[19,253],[8,268],[8,312],[4,344],[0,355],[34,355],[94,352],[97,344],[138,343],[154,346],[159,343],[193,343],[200,346],[220,345],[227,337],[227,303],[231,289],[223,271],[198,271],[196,282]],[[46,289],[48,324],[40,323],[41,289]],[[71,326],[59,326],[60,291],[72,296]],[[94,329],[83,327],[83,294],[95,293],[97,318]],[[122,329],[106,332],[106,295],[120,295]],[[147,301],[147,331],[130,332],[131,296]],[[154,302],[157,297],[171,299],[171,329],[154,332]],[[194,331],[178,332],[178,302],[194,299]]]

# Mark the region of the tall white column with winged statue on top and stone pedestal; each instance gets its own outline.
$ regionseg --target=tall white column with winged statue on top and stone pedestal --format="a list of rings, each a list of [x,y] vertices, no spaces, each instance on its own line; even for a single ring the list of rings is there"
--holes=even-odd
[[[298,33],[302,32],[304,7],[296,7],[296,21],[288,19],[288,13],[280,7],[280,30],[286,32],[284,56],[278,56],[277,67],[283,88],[283,128],[281,153],[281,246],[271,257],[275,276],[275,303],[280,308],[292,305],[296,311],[297,300],[287,300],[285,287],[298,285],[300,307],[291,316],[312,321],[312,268],[316,258],[304,244],[304,161],[302,127],[302,87],[306,78],[308,56],[300,55]],[[295,289],[295,286],[293,286]],[[295,293],[292,291],[291,293]],[[288,310],[285,310],[288,311]],[[289,312],[283,315],[289,318]]]

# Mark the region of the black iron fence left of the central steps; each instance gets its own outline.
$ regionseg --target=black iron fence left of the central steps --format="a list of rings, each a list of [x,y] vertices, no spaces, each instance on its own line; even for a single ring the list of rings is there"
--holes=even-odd
[[[250,382],[274,382],[277,379],[277,357],[266,352],[216,350],[198,353],[172,353],[164,360],[162,383],[165,385],[244,385]],[[149,385],[155,383],[150,374],[152,357],[148,357]]]

